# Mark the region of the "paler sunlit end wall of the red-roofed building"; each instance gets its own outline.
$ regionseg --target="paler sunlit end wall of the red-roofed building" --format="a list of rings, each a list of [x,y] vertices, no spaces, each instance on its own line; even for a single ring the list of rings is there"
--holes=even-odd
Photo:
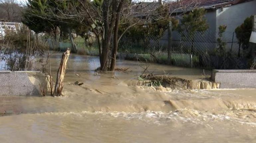
[[[226,25],[227,29],[223,34],[223,41],[227,42],[227,49],[231,48],[235,28],[241,25],[245,18],[250,17],[251,15],[256,15],[256,0],[223,7],[216,10],[216,37],[218,34],[218,27],[220,25]],[[237,52],[238,47],[238,41],[234,33],[232,51]]]

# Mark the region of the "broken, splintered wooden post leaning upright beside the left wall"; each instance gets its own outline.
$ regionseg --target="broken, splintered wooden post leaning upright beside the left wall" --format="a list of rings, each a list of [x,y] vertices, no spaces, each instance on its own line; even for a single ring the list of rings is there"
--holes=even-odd
[[[54,96],[62,95],[61,92],[63,89],[63,80],[64,80],[64,76],[65,76],[65,70],[66,70],[66,65],[67,65],[67,60],[68,60],[69,54],[70,54],[69,48],[67,48],[66,52],[64,52],[62,54],[60,67],[57,72],[57,79],[56,79],[56,84],[55,84],[54,93],[53,93]]]

